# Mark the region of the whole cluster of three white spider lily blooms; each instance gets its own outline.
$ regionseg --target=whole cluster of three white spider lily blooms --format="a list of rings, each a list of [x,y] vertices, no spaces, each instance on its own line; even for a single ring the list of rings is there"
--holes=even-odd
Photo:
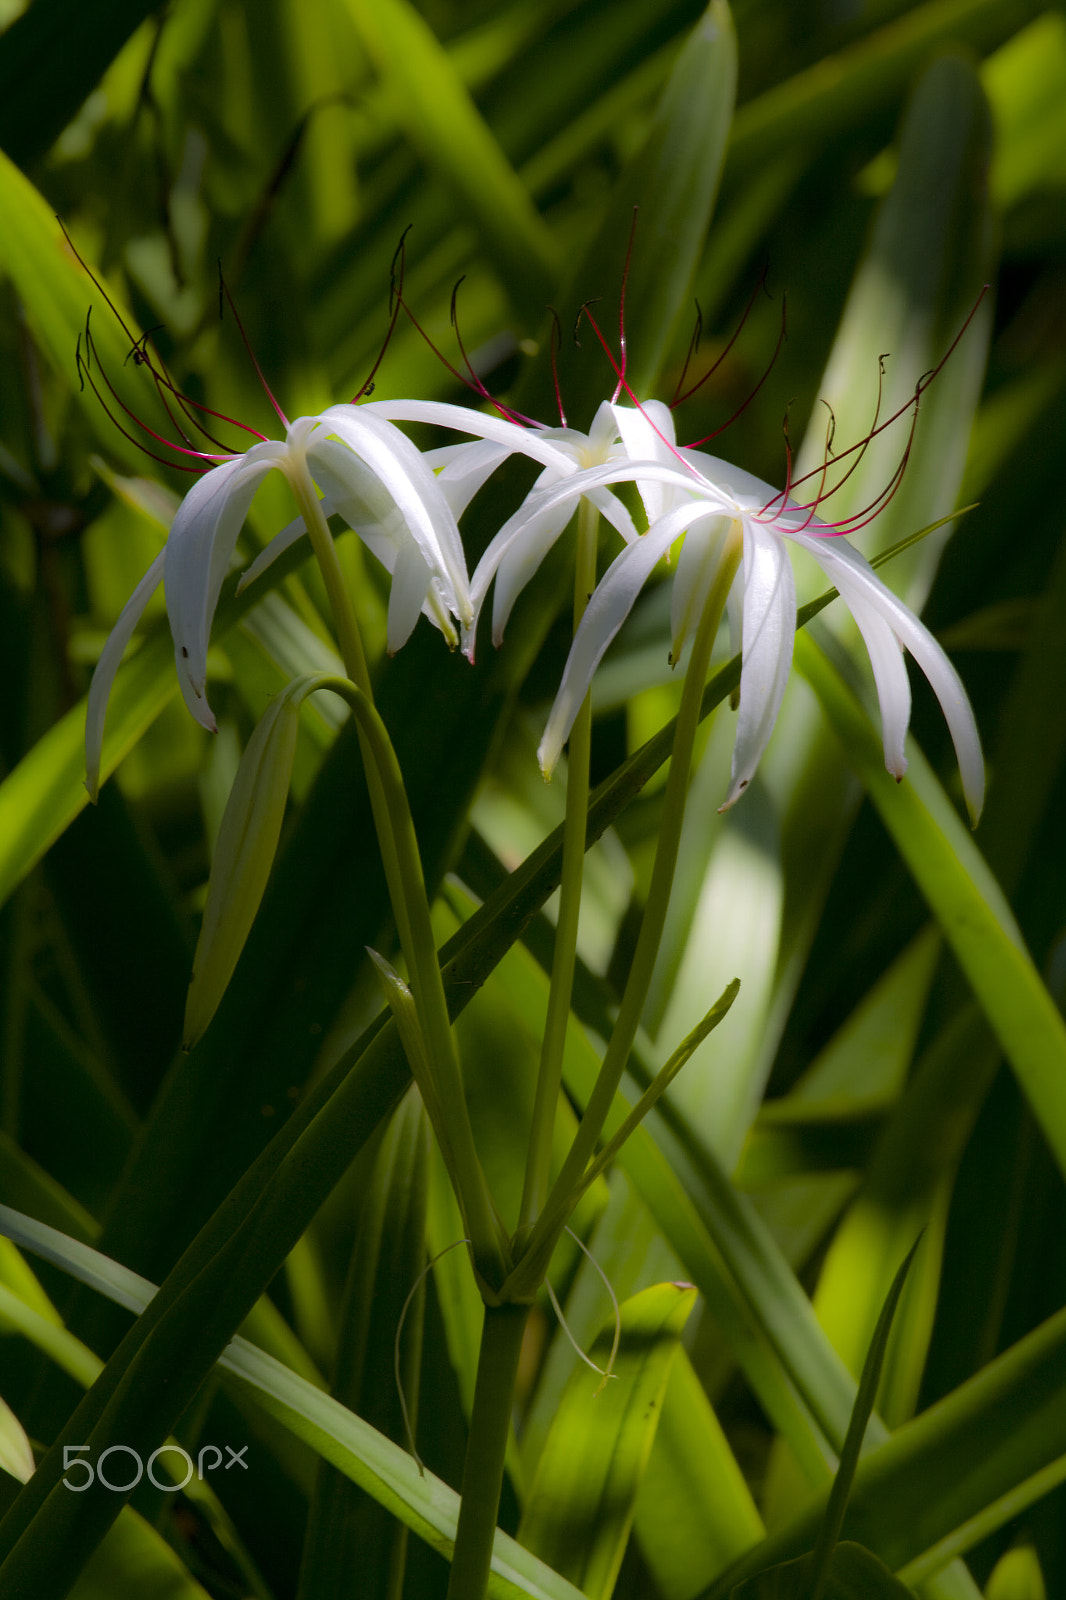
[[[419,453],[397,426],[429,422],[469,435],[458,445]],[[501,462],[530,456],[541,474],[499,528],[472,576],[458,522]],[[773,731],[795,637],[795,584],[786,544],[807,550],[837,587],[869,651],[882,717],[885,765],[906,768],[904,734],[911,690],[903,650],[930,680],[956,746],[962,789],[976,818],[984,763],[973,710],[959,674],[928,629],[831,523],[791,504],[749,474],[696,450],[679,448],[667,406],[605,402],[589,434],[531,427],[506,416],[434,402],[336,405],[299,418],[283,442],[266,440],[219,458],[182,501],[165,550],[152,563],[107,640],[90,690],[88,787],[99,782],[104,710],[110,686],[144,606],[160,582],[174,637],[178,678],[194,717],[213,728],[206,702],[206,648],[222,579],[253,496],[271,470],[317,485],[322,509],[339,515],[392,574],[387,648],[399,650],[419,611],[474,656],[480,610],[493,587],[493,640],[499,643],[515,597],[586,496],[611,525],[621,550],[597,586],[547,718],[538,757],[547,776],[603,651],[629,614],[658,562],[683,536],[674,571],[672,651],[677,661],[695,629],[730,539],[743,538],[743,560],[730,592],[730,624],[743,667],[733,771],[725,805],[751,781]],[[647,530],[639,531],[615,493],[635,483]],[[245,574],[258,576],[304,533],[288,525]]]

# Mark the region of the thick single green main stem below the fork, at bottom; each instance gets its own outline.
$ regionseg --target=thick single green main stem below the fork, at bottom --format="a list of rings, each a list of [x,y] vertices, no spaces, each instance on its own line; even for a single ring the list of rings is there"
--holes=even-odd
[[[528,1306],[487,1306],[448,1600],[483,1600]]]

